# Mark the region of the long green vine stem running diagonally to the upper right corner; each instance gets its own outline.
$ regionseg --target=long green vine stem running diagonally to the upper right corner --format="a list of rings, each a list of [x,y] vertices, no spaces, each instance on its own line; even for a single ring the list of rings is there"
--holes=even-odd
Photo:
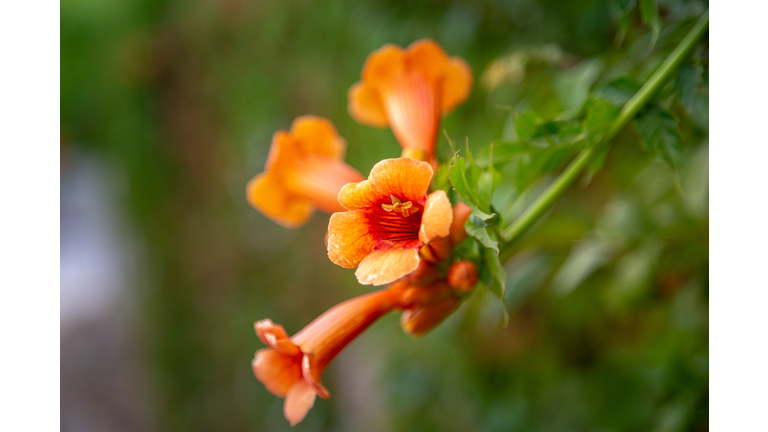
[[[568,165],[565,171],[563,171],[560,176],[558,176],[552,182],[552,184],[549,185],[547,190],[545,190],[539,196],[539,198],[512,223],[512,225],[507,227],[502,232],[502,237],[505,240],[500,254],[502,263],[511,258],[512,244],[514,241],[519,239],[522,234],[524,234],[534,223],[536,223],[537,220],[539,220],[539,218],[547,210],[549,210],[550,207],[552,207],[557,198],[559,198],[560,195],[562,195],[563,192],[568,189],[568,187],[576,180],[581,171],[586,168],[587,164],[592,160],[592,157],[595,155],[597,150],[600,147],[607,145],[621,130],[621,128],[623,128],[627,122],[634,118],[638,111],[640,111],[640,108],[648,103],[651,96],[653,96],[653,94],[659,90],[661,85],[664,84],[672,72],[677,69],[677,67],[680,65],[680,62],[683,61],[685,56],[690,52],[699,38],[704,35],[708,27],[709,9],[707,9],[704,15],[699,18],[699,21],[696,23],[693,29],[688,32],[688,34],[675,48],[675,50],[672,51],[666,60],[664,60],[664,63],[662,63],[656,72],[654,72],[654,74],[648,79],[648,81],[645,82],[643,87],[641,87],[640,90],[638,90],[638,92],[632,96],[632,99],[624,104],[621,111],[619,112],[619,115],[616,117],[613,123],[611,123],[610,128],[606,134],[603,135],[600,141],[594,146],[590,146],[582,150],[581,153],[579,153],[579,155],[576,156],[576,158],[571,162],[571,164]]]

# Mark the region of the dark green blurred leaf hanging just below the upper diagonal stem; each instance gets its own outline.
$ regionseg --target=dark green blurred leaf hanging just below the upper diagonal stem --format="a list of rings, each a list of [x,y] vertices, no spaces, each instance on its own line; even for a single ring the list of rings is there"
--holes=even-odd
[[[683,160],[683,139],[677,120],[658,106],[637,117],[637,131],[652,156],[666,161],[674,170]]]

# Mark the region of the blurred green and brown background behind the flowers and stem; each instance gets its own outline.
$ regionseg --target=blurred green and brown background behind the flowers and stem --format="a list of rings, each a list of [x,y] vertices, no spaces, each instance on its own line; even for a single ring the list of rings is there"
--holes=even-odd
[[[370,287],[327,259],[328,216],[287,230],[246,203],[272,133],[314,114],[360,172],[398,156],[389,130],[349,117],[346,91],[374,49],[430,37],[472,66],[443,128],[479,149],[507,133],[510,107],[566,110],[558,89],[589,62],[644,79],[707,8],[661,1],[651,48],[634,6],[63,0],[62,430],[290,429],[251,371],[253,322],[292,334]],[[706,73],[697,50],[687,67]],[[499,58],[517,66],[481,84]],[[708,109],[669,104],[679,172],[625,128],[507,264],[506,327],[481,290],[421,339],[385,317],[295,429],[707,430]]]

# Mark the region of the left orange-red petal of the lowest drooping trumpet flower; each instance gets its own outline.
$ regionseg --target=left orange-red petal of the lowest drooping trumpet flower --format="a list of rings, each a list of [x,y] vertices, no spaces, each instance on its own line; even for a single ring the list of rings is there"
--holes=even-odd
[[[256,351],[251,362],[253,374],[264,387],[275,396],[284,397],[299,381],[304,381],[301,374],[301,357],[290,357],[271,349]]]

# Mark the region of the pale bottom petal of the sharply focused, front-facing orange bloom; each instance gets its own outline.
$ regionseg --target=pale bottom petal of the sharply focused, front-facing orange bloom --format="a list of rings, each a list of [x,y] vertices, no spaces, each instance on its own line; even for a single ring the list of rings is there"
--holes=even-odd
[[[355,276],[363,285],[384,285],[411,273],[418,266],[418,249],[373,251],[360,262]]]

